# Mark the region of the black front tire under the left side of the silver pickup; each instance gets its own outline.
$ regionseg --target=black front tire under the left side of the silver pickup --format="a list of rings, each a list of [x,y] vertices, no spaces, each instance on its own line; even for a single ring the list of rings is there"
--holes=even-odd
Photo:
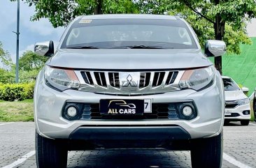
[[[68,151],[64,143],[57,139],[41,137],[36,132],[36,165],[38,168],[64,168]]]

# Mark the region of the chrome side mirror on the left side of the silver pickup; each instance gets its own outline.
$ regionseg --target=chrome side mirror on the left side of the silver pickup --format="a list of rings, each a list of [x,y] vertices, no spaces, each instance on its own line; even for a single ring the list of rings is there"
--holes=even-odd
[[[36,43],[34,47],[34,52],[41,56],[52,56],[55,53],[55,47],[52,40]]]

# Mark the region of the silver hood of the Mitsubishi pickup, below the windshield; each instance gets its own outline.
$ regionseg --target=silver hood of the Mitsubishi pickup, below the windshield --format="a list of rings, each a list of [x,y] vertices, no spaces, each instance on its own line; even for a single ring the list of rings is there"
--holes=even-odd
[[[201,49],[59,49],[47,64],[104,70],[180,69],[212,65]]]

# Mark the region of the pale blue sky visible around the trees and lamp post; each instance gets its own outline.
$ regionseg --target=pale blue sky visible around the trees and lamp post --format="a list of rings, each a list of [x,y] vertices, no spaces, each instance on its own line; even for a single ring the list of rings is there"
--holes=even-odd
[[[27,50],[34,50],[36,42],[47,40],[59,41],[63,27],[57,29],[52,27],[48,19],[41,19],[31,22],[30,17],[34,15],[34,6],[29,7],[27,3],[20,1],[20,56]],[[17,30],[17,2],[10,0],[0,0],[0,41],[3,49],[7,50],[13,62],[16,53],[16,34]],[[248,24],[248,36],[256,37],[256,19]]]

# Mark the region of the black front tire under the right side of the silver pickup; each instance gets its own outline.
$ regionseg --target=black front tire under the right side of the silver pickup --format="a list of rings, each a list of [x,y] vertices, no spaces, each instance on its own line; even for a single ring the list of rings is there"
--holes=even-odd
[[[223,153],[223,133],[216,137],[192,140],[192,168],[221,168]]]

